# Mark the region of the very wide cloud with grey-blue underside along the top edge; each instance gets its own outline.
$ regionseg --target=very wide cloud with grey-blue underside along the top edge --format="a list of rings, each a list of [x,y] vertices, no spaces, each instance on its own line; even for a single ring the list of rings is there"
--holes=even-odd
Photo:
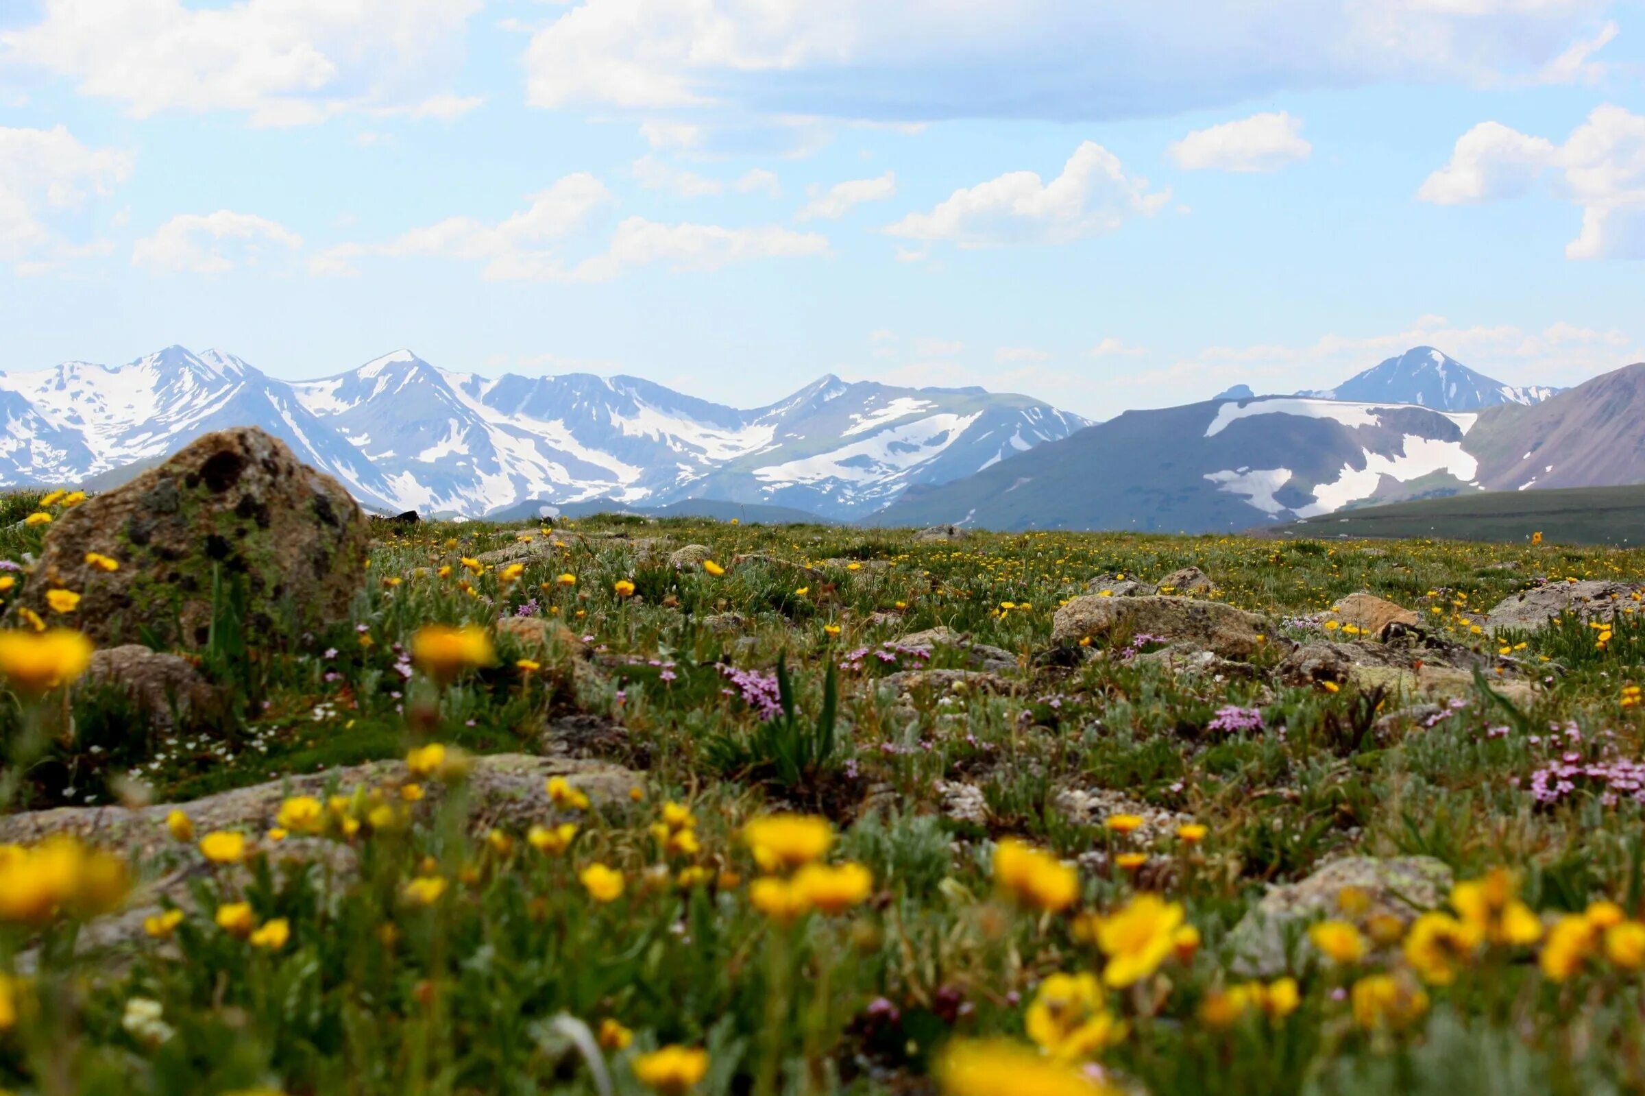
[[[533,35],[526,79],[540,107],[651,118],[1160,117],[1288,89],[1581,76],[1604,43],[1579,36],[1619,3],[586,0]]]

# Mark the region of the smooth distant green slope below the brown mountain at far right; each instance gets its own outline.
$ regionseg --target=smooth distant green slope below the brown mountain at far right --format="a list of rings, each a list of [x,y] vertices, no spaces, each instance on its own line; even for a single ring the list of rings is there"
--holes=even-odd
[[[1418,499],[1291,522],[1262,535],[1518,541],[1533,532],[1561,545],[1645,545],[1645,484]]]

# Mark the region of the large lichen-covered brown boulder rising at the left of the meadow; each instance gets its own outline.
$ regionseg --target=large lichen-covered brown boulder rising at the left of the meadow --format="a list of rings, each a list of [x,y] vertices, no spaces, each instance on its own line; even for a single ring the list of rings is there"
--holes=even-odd
[[[72,624],[99,643],[206,643],[212,591],[243,586],[247,637],[337,620],[365,583],[370,532],[342,485],[255,426],[196,439],[53,525],[20,599],[81,594]],[[107,571],[87,553],[118,563]]]

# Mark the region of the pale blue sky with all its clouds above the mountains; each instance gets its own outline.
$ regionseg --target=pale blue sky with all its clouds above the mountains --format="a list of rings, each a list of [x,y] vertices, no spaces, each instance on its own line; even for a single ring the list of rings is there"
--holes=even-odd
[[[5,0],[0,369],[1127,408],[1645,359],[1645,0]]]

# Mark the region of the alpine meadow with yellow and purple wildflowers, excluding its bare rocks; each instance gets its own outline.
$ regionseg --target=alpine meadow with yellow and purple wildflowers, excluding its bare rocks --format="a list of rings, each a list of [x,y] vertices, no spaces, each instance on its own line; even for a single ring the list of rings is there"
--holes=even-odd
[[[13,525],[35,502],[0,502],[0,558],[38,553],[44,527]],[[347,620],[192,653],[225,691],[204,726],[7,694],[13,811],[179,806],[100,852],[41,836],[72,816],[107,843],[87,813],[0,849],[0,1089],[1642,1091],[1645,627],[1485,635],[1477,612],[1638,579],[1645,553],[1523,528],[383,525]],[[689,543],[714,566],[670,566]],[[1272,620],[1253,653],[1051,642],[1092,578],[1188,564]],[[1295,643],[1369,643],[1321,617],[1354,591],[1512,658],[1535,698],[1283,683]],[[979,653],[898,642],[933,627],[1005,660],[933,673]],[[568,727],[635,792],[475,810],[474,755]],[[252,816],[201,798],[377,759],[406,764]],[[1242,920],[1342,857],[1439,875],[1331,889],[1253,969]]]

